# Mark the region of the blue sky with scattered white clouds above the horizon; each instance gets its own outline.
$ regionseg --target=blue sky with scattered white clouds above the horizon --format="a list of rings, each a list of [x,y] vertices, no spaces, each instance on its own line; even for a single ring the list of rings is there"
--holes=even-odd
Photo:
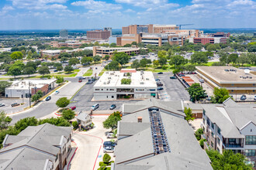
[[[0,30],[121,29],[131,24],[256,28],[256,0],[0,0]]]

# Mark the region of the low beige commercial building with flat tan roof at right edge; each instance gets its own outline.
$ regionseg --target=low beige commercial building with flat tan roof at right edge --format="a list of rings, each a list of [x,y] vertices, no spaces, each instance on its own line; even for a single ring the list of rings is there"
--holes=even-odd
[[[196,73],[211,87],[225,87],[233,94],[255,94],[256,75],[233,66],[196,66]]]

